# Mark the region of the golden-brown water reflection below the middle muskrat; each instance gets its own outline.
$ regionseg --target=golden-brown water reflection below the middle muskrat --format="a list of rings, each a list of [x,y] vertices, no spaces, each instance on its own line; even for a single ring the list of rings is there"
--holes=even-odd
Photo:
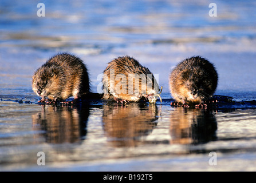
[[[113,146],[136,146],[140,137],[152,132],[157,118],[156,105],[103,106],[104,130]]]

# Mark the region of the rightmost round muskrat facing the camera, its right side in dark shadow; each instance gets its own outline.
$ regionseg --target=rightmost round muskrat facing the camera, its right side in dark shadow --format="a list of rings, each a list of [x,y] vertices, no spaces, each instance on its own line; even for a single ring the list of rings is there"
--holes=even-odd
[[[184,59],[170,74],[170,90],[177,102],[206,105],[218,84],[218,73],[212,63],[200,56]],[[203,106],[202,105],[202,106]]]

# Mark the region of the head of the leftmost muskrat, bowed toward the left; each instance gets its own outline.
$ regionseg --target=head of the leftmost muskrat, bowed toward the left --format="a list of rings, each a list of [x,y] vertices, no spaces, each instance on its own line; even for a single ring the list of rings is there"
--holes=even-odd
[[[55,71],[38,70],[33,76],[33,91],[40,97],[50,99],[58,97],[58,75]]]

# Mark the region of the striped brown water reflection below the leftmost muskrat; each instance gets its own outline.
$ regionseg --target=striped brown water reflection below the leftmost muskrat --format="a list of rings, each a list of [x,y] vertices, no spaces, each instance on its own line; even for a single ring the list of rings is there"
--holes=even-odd
[[[68,107],[42,106],[40,113],[34,114],[34,130],[44,130],[38,134],[51,144],[79,142],[86,136],[89,108],[70,109]],[[37,137],[39,138],[39,137]]]

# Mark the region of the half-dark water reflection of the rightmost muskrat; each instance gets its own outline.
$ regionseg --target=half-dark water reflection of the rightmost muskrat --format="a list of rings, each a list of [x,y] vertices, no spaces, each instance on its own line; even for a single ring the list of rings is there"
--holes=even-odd
[[[217,122],[208,110],[176,108],[171,111],[171,144],[201,144],[215,141]]]

